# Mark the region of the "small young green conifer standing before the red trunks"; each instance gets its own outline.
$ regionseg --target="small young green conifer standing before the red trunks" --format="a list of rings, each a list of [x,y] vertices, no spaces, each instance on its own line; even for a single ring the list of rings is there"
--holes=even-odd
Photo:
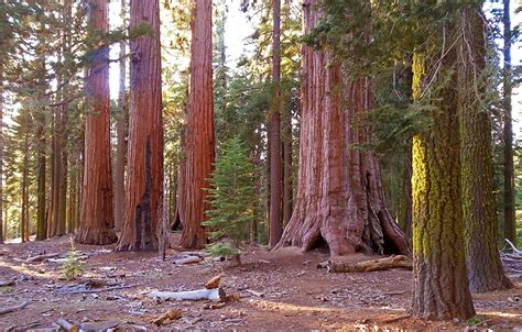
[[[224,143],[221,157],[209,182],[209,202],[205,226],[210,229],[210,239],[215,242],[207,245],[210,254],[233,256],[240,264],[241,240],[247,239],[249,225],[254,218],[255,209],[255,168],[248,158],[248,150],[239,137]]]

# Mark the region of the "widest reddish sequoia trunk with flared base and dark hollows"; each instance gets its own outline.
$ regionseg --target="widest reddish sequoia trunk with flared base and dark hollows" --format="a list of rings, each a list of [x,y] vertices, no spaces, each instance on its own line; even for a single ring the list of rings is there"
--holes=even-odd
[[[304,11],[308,33],[319,20],[317,0],[306,0]],[[331,59],[304,46],[297,196],[278,246],[307,251],[324,241],[331,255],[407,255],[404,233],[387,208],[377,156],[350,148],[370,139],[369,129],[352,121],[372,107],[371,80],[344,82]]]

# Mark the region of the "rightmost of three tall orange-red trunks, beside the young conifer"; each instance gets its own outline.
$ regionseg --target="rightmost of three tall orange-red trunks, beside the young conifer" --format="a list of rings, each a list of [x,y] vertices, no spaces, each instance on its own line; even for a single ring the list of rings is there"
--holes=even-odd
[[[200,248],[207,243],[202,222],[207,219],[208,178],[214,169],[215,131],[213,98],[213,5],[196,0],[192,20],[191,86],[186,122],[184,196],[181,207],[181,245]]]

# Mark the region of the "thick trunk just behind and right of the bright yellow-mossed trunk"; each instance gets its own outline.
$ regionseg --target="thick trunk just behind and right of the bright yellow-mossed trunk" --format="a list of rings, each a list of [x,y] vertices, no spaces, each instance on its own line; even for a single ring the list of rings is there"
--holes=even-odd
[[[460,118],[460,164],[466,263],[472,291],[485,292],[512,287],[505,277],[497,247],[497,219],[491,159],[491,124],[485,93],[486,26],[480,4],[459,12],[463,36],[458,48]]]

